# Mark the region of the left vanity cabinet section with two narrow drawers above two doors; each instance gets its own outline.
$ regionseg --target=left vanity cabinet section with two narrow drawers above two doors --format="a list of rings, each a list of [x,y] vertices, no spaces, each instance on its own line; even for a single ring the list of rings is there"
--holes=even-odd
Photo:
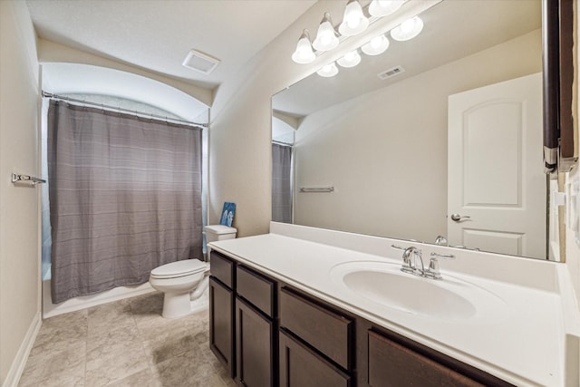
[[[277,386],[276,284],[211,252],[209,345],[239,386]]]

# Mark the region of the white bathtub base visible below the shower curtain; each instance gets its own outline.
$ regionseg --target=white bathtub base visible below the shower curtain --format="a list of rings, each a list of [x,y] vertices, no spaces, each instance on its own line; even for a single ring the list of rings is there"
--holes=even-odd
[[[63,301],[60,304],[53,304],[51,299],[51,281],[43,281],[43,318],[74,312],[95,305],[107,304],[123,298],[134,297],[135,295],[145,295],[154,291],[155,289],[151,287],[150,283],[146,282],[140,285],[119,286],[96,295],[82,295]]]

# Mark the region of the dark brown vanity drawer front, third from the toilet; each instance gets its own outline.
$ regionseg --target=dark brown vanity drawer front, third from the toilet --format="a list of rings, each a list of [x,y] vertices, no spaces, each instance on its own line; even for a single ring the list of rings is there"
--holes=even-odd
[[[316,305],[284,287],[280,291],[280,325],[345,370],[352,369],[351,319]]]

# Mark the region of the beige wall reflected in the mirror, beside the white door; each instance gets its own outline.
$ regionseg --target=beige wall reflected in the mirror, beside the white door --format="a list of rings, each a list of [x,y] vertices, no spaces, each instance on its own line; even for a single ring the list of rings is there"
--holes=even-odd
[[[541,43],[536,30],[306,117],[296,131],[295,189],[335,191],[296,192],[295,223],[426,241],[446,235],[448,97],[540,73]]]

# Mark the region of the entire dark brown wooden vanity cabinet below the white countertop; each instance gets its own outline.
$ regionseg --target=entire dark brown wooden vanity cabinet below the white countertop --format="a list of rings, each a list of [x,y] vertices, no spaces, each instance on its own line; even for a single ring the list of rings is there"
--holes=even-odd
[[[211,253],[210,346],[238,386],[511,386]]]

